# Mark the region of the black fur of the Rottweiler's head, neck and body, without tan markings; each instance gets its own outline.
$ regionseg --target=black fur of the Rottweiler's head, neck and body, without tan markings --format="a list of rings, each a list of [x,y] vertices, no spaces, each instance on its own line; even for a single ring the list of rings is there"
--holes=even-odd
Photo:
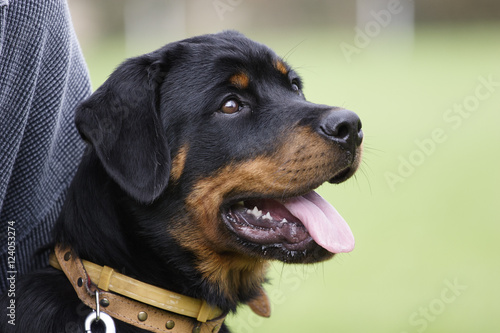
[[[269,156],[286,144],[289,128],[317,129],[331,111],[306,102],[297,74],[280,73],[276,59],[267,47],[224,32],[168,44],[120,65],[76,111],[76,126],[89,145],[54,228],[54,244],[71,245],[81,258],[224,311],[255,297],[255,288],[226,297],[172,233],[189,223],[185,200],[196,181],[230,163]],[[249,89],[228,86],[239,71],[251,73]],[[222,114],[231,96],[244,101],[241,110]],[[172,161],[185,144],[185,167],[172,179]],[[223,233],[221,239],[230,237]],[[62,272],[49,267],[25,276],[17,291],[16,326],[4,316],[1,332],[83,332],[90,310]],[[2,309],[7,301],[4,296]],[[115,323],[120,333],[143,332]]]

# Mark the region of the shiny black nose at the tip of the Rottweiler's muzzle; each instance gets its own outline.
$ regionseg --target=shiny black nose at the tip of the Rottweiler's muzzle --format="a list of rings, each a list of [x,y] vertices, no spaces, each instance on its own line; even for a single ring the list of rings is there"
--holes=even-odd
[[[361,120],[356,113],[349,110],[329,111],[321,120],[319,130],[344,149],[354,150],[363,141]]]

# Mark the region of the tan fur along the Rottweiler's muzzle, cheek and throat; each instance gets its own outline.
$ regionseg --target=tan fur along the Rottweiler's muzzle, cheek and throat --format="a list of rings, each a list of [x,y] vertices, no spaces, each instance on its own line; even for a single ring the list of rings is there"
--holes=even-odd
[[[235,197],[288,197],[304,194],[343,168],[336,146],[308,128],[288,131],[269,155],[232,162],[195,182],[186,198],[185,223],[174,237],[197,258],[197,269],[226,297],[264,281],[267,264],[247,254],[221,217],[225,200]],[[339,168],[339,169],[336,169]]]

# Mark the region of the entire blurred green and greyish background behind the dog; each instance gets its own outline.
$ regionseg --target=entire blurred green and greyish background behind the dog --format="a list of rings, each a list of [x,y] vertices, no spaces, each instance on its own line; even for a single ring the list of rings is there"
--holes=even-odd
[[[357,112],[355,178],[320,188],[356,237],[273,263],[272,316],[234,332],[500,332],[500,2],[70,0],[94,88],[129,56],[237,29],[286,58],[306,97]]]

